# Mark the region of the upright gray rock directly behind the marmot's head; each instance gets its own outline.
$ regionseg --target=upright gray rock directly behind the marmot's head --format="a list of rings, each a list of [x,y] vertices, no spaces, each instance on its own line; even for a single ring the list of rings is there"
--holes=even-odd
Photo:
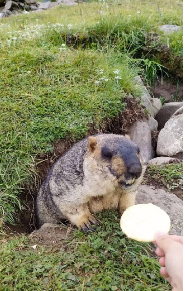
[[[144,121],[136,121],[132,124],[129,131],[130,139],[140,147],[141,156],[145,162],[154,157],[152,146],[151,130]]]

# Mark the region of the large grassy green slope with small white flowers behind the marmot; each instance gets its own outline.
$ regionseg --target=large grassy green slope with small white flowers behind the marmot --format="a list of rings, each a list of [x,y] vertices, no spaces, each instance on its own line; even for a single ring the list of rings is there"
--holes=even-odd
[[[16,221],[23,192],[35,192],[38,153],[52,151],[54,140],[82,138],[92,125],[104,128],[128,93],[139,96],[133,76],[151,82],[166,70],[134,55],[151,31],[161,35],[150,43],[159,50],[167,37],[158,28],[169,22],[182,25],[181,2],[79,3],[1,19],[0,226]],[[172,64],[181,33],[168,37]]]

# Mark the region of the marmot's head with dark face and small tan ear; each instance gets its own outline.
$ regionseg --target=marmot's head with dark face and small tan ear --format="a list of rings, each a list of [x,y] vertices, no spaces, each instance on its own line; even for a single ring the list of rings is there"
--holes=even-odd
[[[101,175],[106,175],[122,189],[131,189],[141,182],[145,166],[139,147],[128,136],[90,136],[88,146]]]

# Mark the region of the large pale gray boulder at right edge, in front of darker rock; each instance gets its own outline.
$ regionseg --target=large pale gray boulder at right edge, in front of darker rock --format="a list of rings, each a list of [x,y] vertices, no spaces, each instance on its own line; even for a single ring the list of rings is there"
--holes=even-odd
[[[172,157],[182,153],[183,107],[166,122],[158,135],[157,155]]]

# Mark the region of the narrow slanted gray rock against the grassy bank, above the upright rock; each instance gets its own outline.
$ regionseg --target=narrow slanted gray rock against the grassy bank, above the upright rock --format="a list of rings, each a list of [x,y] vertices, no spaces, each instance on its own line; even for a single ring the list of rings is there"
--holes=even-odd
[[[141,89],[141,96],[140,96],[140,99],[141,99],[141,103],[142,105],[148,109],[148,112],[150,113],[150,115],[152,117],[154,117],[154,113],[153,113],[153,106],[152,106],[152,103],[151,103],[151,100],[152,100],[152,97],[150,96],[147,88],[144,86],[141,78],[139,76],[136,76],[133,78],[133,81],[135,82],[135,84],[138,84],[140,86],[140,89]]]

